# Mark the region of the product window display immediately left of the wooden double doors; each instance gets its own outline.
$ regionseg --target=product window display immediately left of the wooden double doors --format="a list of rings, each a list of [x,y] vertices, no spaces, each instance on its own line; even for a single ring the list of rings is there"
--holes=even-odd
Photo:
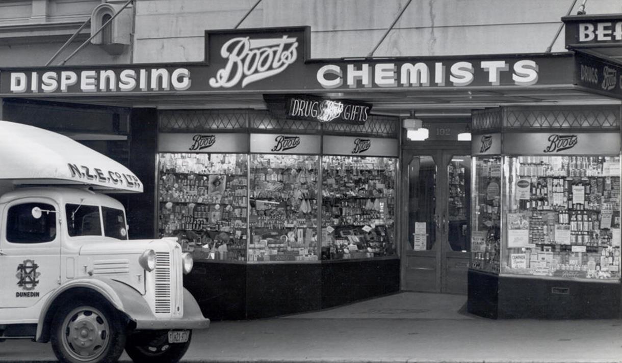
[[[322,259],[394,255],[396,159],[322,157]]]

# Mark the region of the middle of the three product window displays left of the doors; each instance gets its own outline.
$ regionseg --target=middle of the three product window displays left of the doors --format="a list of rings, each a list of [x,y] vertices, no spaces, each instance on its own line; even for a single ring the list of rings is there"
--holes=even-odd
[[[318,260],[316,155],[251,155],[249,261]]]

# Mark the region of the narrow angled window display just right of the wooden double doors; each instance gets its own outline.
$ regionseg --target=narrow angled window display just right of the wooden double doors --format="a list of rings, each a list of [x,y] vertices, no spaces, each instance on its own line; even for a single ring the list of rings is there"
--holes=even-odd
[[[471,268],[499,273],[501,157],[474,157]]]

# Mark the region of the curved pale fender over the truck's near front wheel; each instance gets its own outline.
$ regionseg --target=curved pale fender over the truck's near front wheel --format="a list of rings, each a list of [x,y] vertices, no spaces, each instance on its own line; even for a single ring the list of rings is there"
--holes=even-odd
[[[62,298],[67,293],[70,294],[71,290],[74,289],[81,292],[90,290],[96,295],[101,295],[110,305],[127,315],[132,321],[136,321],[136,318],[145,315],[152,316],[151,308],[147,305],[147,301],[141,293],[129,285],[110,278],[78,278],[62,285],[45,301],[39,314],[36,341],[47,342],[49,340],[49,331],[55,311],[55,309],[50,310],[50,308],[55,305],[59,298]]]

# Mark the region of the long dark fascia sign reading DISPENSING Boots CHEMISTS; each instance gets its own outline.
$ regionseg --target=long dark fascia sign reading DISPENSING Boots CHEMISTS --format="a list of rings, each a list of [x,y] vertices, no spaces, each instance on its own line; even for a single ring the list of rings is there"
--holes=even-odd
[[[205,32],[203,62],[1,69],[0,96],[232,91],[309,94],[572,85],[573,81],[572,53],[312,60],[310,34],[310,27],[209,30]],[[331,119],[339,111],[339,101],[333,101],[327,101],[322,112],[317,111],[322,119]],[[343,117],[346,103],[341,102]],[[363,122],[364,110],[360,111],[356,117],[349,116],[352,122]]]

